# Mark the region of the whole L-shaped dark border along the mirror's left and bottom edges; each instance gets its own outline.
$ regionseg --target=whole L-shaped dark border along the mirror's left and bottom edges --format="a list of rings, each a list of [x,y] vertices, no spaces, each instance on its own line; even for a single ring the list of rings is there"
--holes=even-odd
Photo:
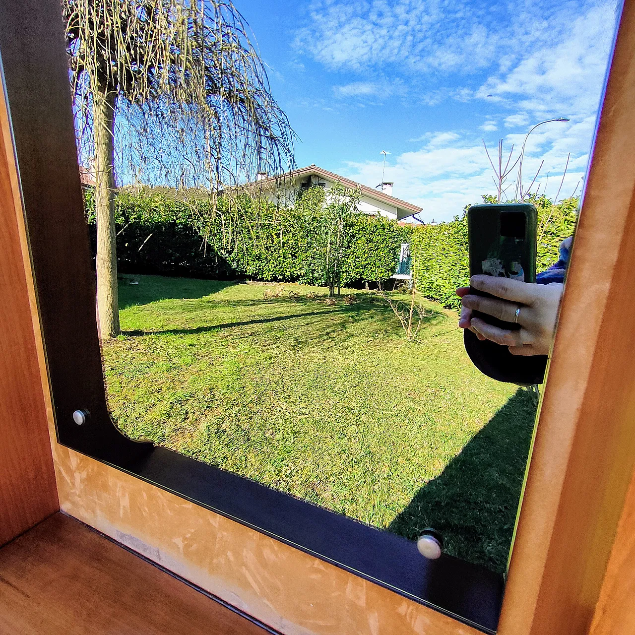
[[[500,575],[450,556],[427,561],[411,540],[117,431],[105,398],[59,0],[0,2],[0,24],[4,89],[58,441],[464,624],[495,632]],[[77,409],[90,411],[86,424],[73,422]]]

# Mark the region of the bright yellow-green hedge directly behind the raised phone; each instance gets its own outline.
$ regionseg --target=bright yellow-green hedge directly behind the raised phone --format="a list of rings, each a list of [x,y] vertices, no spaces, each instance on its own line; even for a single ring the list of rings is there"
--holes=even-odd
[[[483,201],[494,202],[490,196],[483,196]],[[554,205],[540,196],[531,202],[538,210],[537,271],[544,271],[558,260],[559,244],[573,234],[578,199],[565,199]],[[469,283],[467,208],[462,217],[450,222],[417,227],[411,253],[418,291],[448,309],[458,309],[460,300],[455,289]]]

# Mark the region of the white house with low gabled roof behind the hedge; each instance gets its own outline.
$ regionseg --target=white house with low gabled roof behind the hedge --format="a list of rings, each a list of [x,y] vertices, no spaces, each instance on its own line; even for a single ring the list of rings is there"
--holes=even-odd
[[[422,211],[422,208],[412,203],[406,203],[392,196],[392,182],[384,181],[377,188],[368,187],[341,177],[338,174],[310,165],[306,168],[286,172],[279,177],[267,177],[259,174],[255,183],[256,187],[269,200],[282,206],[293,206],[298,192],[312,186],[324,187],[327,191],[331,185],[340,182],[345,187],[359,187],[361,197],[358,203],[358,211],[369,215],[380,215],[392,220],[401,220]]]

